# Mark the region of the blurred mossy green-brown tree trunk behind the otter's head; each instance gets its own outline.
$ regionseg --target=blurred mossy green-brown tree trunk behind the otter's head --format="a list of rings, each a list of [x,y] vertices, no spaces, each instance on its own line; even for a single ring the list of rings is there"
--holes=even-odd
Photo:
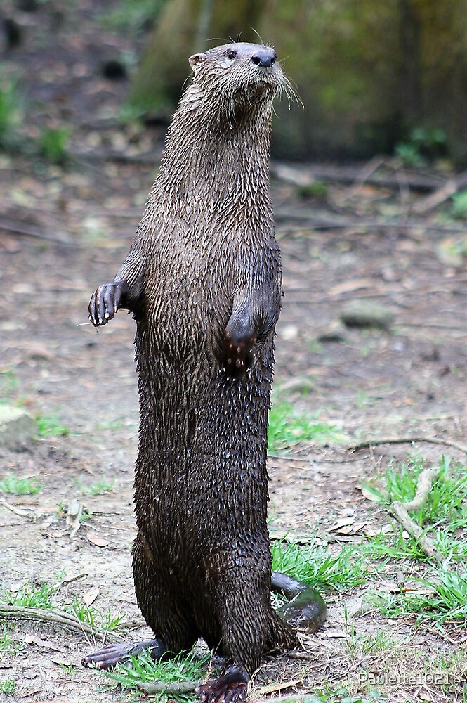
[[[190,53],[260,34],[305,106],[277,105],[277,155],[366,157],[390,152],[412,127],[441,127],[463,161],[466,17],[467,0],[169,0],[130,101],[144,111],[172,109]]]

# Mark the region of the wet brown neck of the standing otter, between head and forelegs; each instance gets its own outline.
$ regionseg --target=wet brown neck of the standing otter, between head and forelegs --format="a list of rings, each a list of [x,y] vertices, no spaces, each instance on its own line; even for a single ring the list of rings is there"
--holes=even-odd
[[[202,211],[232,212],[237,205],[244,217],[251,205],[251,217],[272,219],[271,113],[271,103],[237,109],[232,115],[218,105],[182,100],[169,127],[156,181],[161,212],[199,217]]]

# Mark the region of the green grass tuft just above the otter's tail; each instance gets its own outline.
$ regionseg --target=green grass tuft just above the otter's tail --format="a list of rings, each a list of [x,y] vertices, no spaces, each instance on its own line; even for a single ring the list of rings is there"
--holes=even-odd
[[[341,546],[337,555],[318,545],[300,546],[284,539],[271,545],[272,569],[298,581],[309,583],[318,591],[344,591],[365,583],[369,576],[366,557],[357,546]]]

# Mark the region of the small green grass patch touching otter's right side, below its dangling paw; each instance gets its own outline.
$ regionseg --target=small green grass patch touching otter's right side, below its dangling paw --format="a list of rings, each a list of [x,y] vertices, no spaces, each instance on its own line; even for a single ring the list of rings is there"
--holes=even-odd
[[[284,451],[303,441],[315,444],[345,439],[337,425],[317,420],[317,413],[298,411],[289,401],[276,399],[269,413],[268,449]]]

